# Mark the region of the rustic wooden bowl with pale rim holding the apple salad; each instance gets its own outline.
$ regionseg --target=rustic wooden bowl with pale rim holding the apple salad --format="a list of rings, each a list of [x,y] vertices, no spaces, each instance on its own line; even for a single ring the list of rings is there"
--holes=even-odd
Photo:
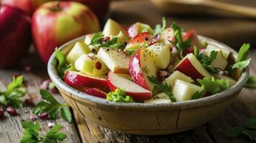
[[[229,46],[204,36],[199,38],[222,49],[230,49],[232,58],[236,58],[237,52]],[[81,36],[67,42],[60,49],[67,54],[76,41],[84,39],[85,36]],[[77,91],[58,77],[53,55],[49,59],[48,73],[67,104],[85,119],[119,132],[143,135],[173,134],[209,122],[234,102],[249,77],[248,68],[238,70],[233,76],[238,79],[237,84],[210,97],[172,104],[143,104],[108,102]]]

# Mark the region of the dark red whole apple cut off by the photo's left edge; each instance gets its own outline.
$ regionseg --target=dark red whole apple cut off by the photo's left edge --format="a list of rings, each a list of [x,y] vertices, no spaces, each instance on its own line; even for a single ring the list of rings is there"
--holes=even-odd
[[[0,8],[0,68],[11,67],[27,54],[31,44],[30,18],[13,6]]]

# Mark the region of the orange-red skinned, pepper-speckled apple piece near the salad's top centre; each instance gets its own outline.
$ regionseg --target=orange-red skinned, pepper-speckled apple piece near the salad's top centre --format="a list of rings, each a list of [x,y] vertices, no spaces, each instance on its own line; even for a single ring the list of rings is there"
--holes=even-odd
[[[140,46],[148,42],[150,38],[151,36],[148,32],[144,32],[134,36],[133,39],[131,39],[126,45],[125,51],[139,49]]]

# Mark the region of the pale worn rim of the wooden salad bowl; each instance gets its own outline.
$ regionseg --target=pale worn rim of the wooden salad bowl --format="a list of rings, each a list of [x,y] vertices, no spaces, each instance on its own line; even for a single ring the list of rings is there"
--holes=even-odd
[[[73,44],[76,41],[80,41],[81,39],[84,39],[84,36],[77,37],[76,39],[72,39],[71,41],[68,41],[66,44],[63,44],[60,46],[60,50],[65,49],[65,47],[69,46],[70,44]],[[207,36],[201,36],[199,35],[199,39],[202,39],[204,41],[207,41],[207,44],[213,44],[214,46],[218,46],[222,49],[229,49],[232,51],[234,56],[237,56],[237,51],[232,49],[231,47],[227,46],[226,44],[223,44],[220,41],[216,41],[214,39],[211,39]],[[55,52],[54,52],[55,53]],[[237,81],[234,86],[230,87],[228,90],[224,92],[219,92],[217,94],[211,95],[209,97],[204,97],[200,99],[194,99],[194,100],[188,100],[184,102],[173,102],[173,103],[163,103],[163,104],[150,104],[150,103],[138,103],[138,102],[131,102],[131,103],[120,103],[120,102],[110,102],[106,99],[94,97],[90,94],[85,94],[84,92],[80,92],[77,89],[74,89],[67,85],[60,77],[57,75],[56,68],[54,67],[54,53],[50,57],[48,64],[47,64],[47,71],[49,74],[50,79],[52,79],[52,82],[54,84],[64,90],[65,92],[68,92],[72,95],[75,95],[76,97],[79,97],[80,99],[87,100],[89,102],[94,102],[98,105],[104,105],[109,107],[125,107],[125,108],[168,108],[168,107],[193,107],[193,105],[196,104],[207,104],[212,103],[214,101],[218,101],[218,99],[224,99],[228,97],[232,97],[237,92],[240,92],[240,90],[244,87],[245,83],[247,82],[247,79],[249,78],[249,67],[244,69],[242,71],[240,79]]]

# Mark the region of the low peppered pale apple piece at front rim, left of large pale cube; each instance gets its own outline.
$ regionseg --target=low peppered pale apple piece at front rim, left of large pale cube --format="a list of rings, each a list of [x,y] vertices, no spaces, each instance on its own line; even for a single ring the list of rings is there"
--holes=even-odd
[[[172,103],[170,97],[165,93],[156,94],[152,99],[145,100],[144,103],[161,104],[161,103]]]

